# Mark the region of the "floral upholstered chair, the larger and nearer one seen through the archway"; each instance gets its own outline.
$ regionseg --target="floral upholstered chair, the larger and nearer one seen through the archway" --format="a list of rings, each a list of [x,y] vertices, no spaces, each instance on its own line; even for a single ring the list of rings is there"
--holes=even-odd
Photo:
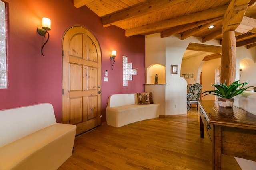
[[[196,83],[190,86],[188,100],[187,100],[188,110],[190,108],[198,109],[198,100],[201,94],[201,90],[202,90],[202,85],[199,83]],[[196,107],[191,107],[191,104],[196,104]]]

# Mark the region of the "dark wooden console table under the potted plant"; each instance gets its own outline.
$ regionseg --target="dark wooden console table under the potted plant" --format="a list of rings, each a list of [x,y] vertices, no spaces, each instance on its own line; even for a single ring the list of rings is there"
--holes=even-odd
[[[214,100],[199,100],[200,133],[212,141],[212,169],[221,170],[221,154],[256,161],[256,115],[238,107],[219,107]]]

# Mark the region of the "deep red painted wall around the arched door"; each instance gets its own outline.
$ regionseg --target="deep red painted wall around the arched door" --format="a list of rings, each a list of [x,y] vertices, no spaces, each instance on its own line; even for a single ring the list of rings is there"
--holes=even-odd
[[[54,106],[57,122],[62,122],[62,38],[72,25],[89,29],[98,39],[102,51],[102,122],[106,121],[108,96],[145,90],[145,38],[125,37],[115,26],[103,27],[101,18],[86,6],[76,8],[73,0],[6,0],[8,89],[0,89],[0,109],[42,102]],[[50,39],[37,33],[42,17],[51,19]],[[110,55],[116,50],[111,70]],[[122,86],[122,56],[128,57],[138,75]],[[103,82],[108,70],[108,82]]]

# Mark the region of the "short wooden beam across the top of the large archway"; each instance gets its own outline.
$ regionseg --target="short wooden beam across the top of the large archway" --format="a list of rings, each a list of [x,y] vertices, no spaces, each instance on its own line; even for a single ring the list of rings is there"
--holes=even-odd
[[[221,46],[189,43],[187,50],[205,51],[211,53],[222,53]]]

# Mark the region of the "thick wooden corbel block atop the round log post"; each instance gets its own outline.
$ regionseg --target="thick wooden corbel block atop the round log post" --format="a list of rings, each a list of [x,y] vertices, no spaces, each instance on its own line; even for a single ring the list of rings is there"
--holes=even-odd
[[[234,31],[244,18],[250,0],[232,0],[224,15],[222,32]]]

